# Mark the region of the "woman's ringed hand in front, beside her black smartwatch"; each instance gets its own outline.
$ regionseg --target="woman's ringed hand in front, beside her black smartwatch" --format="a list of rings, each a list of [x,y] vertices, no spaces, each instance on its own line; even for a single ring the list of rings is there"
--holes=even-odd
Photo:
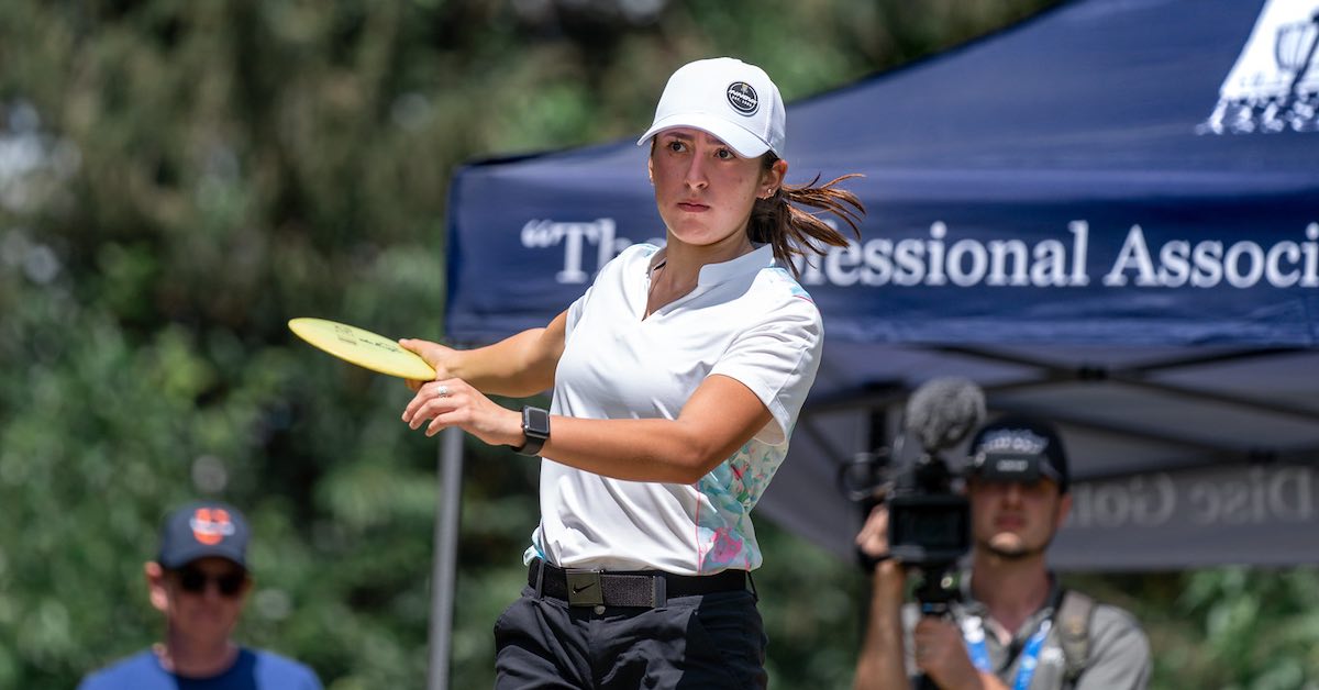
[[[522,443],[522,416],[496,405],[462,379],[423,384],[404,409],[404,422],[412,429],[426,425],[427,437],[456,426],[492,446]]]

